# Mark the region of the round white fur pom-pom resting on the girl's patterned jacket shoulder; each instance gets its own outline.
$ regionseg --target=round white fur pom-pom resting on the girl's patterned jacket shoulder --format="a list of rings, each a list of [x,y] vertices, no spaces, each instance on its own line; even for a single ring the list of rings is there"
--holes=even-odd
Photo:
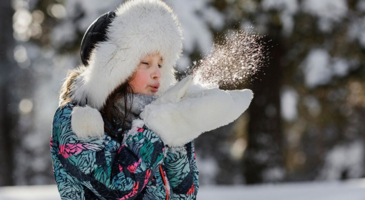
[[[88,105],[75,106],[71,112],[71,127],[80,138],[88,136],[102,137],[104,135],[104,121],[100,112]]]

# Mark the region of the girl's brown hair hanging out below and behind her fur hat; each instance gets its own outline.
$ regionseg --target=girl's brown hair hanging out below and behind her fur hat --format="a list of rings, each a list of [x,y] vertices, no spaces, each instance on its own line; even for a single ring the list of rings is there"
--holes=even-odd
[[[76,78],[84,71],[85,66],[79,66],[75,69],[71,69],[67,72],[65,82],[62,84],[61,89],[59,91],[60,95],[60,107],[64,106],[68,102],[72,101],[72,95],[73,95],[73,87],[75,84]],[[133,78],[134,74],[131,78]],[[131,79],[131,78],[128,78]],[[104,119],[107,119],[112,126],[117,127],[120,126],[119,122],[122,122],[122,130],[118,131],[116,133],[112,133],[113,131],[109,128],[109,126],[104,123],[104,130],[108,133],[111,137],[116,137],[117,134],[123,133],[126,129],[125,127],[125,121],[131,112],[131,105],[127,107],[128,103],[127,100],[130,100],[133,102],[133,95],[128,95],[128,93],[133,94],[132,86],[128,83],[129,81],[125,81],[124,83],[120,84],[118,87],[116,87],[113,92],[109,94],[107,97],[104,106],[99,110],[101,113],[101,116]],[[119,112],[119,109],[115,106],[115,102],[119,99],[124,99],[124,113],[125,115],[121,116]]]

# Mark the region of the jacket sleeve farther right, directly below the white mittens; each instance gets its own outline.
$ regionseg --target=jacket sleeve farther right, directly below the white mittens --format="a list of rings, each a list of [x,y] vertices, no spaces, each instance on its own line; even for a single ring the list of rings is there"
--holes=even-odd
[[[163,160],[173,199],[195,199],[198,189],[198,168],[194,142],[184,146],[168,147]]]

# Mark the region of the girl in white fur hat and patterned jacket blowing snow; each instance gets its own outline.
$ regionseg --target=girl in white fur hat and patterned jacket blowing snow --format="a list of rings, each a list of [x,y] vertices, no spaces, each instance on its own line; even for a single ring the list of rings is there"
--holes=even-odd
[[[90,25],[52,126],[63,200],[196,198],[193,139],[237,118],[252,92],[191,76],[175,84],[181,49],[180,24],[160,0],[129,0]]]

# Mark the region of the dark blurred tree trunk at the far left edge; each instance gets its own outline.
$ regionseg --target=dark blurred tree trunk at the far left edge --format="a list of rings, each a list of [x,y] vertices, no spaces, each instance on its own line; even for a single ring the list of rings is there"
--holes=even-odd
[[[11,110],[12,95],[10,93],[13,59],[13,14],[11,0],[0,4],[0,186],[13,185],[13,137],[16,113]]]

